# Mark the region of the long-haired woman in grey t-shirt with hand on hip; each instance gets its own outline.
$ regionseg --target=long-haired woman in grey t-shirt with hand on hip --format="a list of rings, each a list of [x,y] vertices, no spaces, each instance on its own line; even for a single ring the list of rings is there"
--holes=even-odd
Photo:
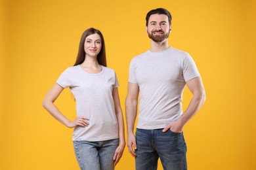
[[[79,44],[74,67],[68,67],[43,100],[43,107],[67,127],[74,127],[73,143],[81,169],[114,169],[125,147],[123,114],[119,102],[116,73],[106,67],[102,33],[87,29]],[[70,88],[77,118],[71,121],[54,101]]]

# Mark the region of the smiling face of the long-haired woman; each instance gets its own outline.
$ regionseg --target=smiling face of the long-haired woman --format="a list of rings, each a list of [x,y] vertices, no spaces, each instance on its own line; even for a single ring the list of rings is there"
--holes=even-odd
[[[102,46],[100,35],[97,33],[85,38],[85,56],[96,57]]]

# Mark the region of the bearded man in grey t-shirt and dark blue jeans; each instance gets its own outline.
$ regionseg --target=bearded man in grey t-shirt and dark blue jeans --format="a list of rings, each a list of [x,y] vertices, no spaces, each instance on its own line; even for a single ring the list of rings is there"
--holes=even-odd
[[[163,169],[187,169],[182,129],[205,101],[202,79],[190,55],[168,44],[171,33],[168,10],[150,10],[146,15],[146,30],[151,39],[150,50],[133,58],[129,67],[125,101],[127,146],[135,157],[137,170],[157,169],[158,158]],[[185,86],[193,97],[182,112]]]

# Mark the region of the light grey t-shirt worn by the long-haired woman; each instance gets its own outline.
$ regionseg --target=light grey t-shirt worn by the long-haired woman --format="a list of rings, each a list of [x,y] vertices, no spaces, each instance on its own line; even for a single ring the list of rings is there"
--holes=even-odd
[[[113,69],[102,66],[100,73],[87,73],[80,65],[68,67],[56,81],[70,88],[77,116],[89,118],[89,126],[74,129],[73,141],[106,141],[118,138],[117,118],[112,96],[119,86]]]

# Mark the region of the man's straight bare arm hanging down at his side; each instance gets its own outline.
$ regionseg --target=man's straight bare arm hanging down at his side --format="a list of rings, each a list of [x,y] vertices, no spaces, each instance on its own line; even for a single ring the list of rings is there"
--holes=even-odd
[[[136,157],[134,149],[137,149],[135,135],[133,129],[135,125],[135,119],[137,116],[139,86],[135,83],[128,83],[128,92],[125,100],[125,115],[127,123],[127,147],[130,154]],[[133,149],[134,148],[134,149]]]

